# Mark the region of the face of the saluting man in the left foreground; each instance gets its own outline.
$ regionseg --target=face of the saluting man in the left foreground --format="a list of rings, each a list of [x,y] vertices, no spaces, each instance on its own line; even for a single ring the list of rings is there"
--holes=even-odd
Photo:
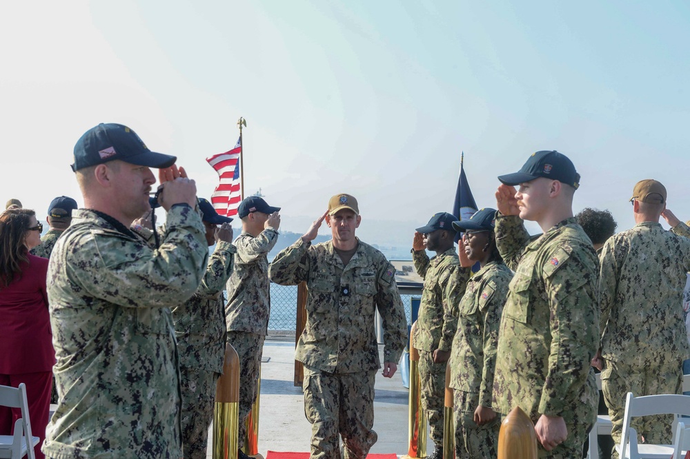
[[[132,221],[148,212],[151,209],[148,196],[156,183],[153,172],[146,166],[121,161],[117,171],[110,170],[115,178],[112,199],[117,201],[121,212]]]

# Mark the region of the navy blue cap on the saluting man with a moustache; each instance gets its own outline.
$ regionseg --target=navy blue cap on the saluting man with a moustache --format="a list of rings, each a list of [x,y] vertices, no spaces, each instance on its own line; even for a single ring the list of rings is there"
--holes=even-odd
[[[515,186],[540,177],[558,180],[566,185],[571,185],[575,190],[580,187],[580,174],[575,171],[573,161],[555,150],[542,150],[533,153],[524,163],[522,169],[515,174],[500,175],[498,180],[504,185]]]

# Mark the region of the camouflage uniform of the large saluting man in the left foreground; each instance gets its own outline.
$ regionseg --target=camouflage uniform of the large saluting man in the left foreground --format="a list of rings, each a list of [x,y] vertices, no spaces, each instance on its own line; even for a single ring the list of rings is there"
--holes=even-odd
[[[180,388],[170,306],[192,296],[208,245],[174,205],[159,250],[102,212],[76,210],[48,267],[59,405],[51,458],[179,458]]]

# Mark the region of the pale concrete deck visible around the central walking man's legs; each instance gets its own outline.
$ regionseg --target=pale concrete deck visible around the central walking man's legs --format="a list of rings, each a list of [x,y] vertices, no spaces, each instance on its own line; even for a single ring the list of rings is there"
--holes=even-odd
[[[259,453],[264,457],[268,450],[310,450],[311,424],[304,416],[302,387],[293,385],[294,354],[292,340],[269,338],[264,345],[259,410]],[[375,391],[374,430],[379,439],[371,453],[404,455],[408,451],[408,389],[403,387],[400,374],[388,379],[378,371]],[[212,439],[209,432],[208,458]],[[427,449],[431,454],[431,441],[427,441]]]

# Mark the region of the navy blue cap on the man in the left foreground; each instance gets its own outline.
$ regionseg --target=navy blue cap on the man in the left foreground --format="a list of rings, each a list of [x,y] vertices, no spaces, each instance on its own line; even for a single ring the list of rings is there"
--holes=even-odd
[[[72,170],[107,163],[119,159],[126,163],[161,169],[175,164],[177,157],[154,153],[127,126],[115,123],[99,124],[86,131],[75,145]]]

